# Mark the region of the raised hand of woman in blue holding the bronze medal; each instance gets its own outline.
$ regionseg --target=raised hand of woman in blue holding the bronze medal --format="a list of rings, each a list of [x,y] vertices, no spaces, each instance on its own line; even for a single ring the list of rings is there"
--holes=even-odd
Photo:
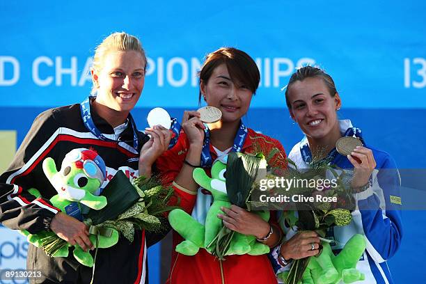
[[[351,155],[347,155],[347,159],[354,165],[352,188],[363,187],[370,180],[370,175],[376,167],[372,150],[358,146]]]

